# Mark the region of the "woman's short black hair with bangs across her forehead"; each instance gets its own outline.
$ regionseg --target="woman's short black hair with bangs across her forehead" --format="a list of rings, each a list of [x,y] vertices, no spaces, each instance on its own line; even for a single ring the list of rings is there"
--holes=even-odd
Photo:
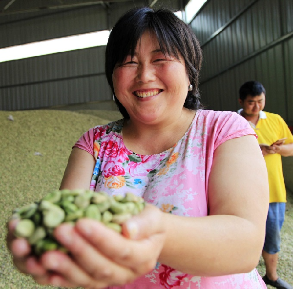
[[[115,103],[123,117],[129,119],[125,107],[115,95],[112,75],[116,64],[123,63],[126,56],[134,52],[145,31],[153,32],[164,54],[179,55],[185,61],[186,72],[192,91],[189,91],[184,106],[191,110],[201,108],[198,90],[202,50],[192,29],[172,11],[162,8],[157,11],[149,7],[134,8],[126,12],[114,25],[106,46],[105,72],[112,89]]]

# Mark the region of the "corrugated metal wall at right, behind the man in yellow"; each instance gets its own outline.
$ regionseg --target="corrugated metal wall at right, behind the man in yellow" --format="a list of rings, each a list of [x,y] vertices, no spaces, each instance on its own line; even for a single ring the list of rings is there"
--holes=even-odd
[[[265,110],[293,125],[292,0],[208,0],[190,25],[204,52],[207,108],[239,109],[239,87],[257,80],[267,91]]]

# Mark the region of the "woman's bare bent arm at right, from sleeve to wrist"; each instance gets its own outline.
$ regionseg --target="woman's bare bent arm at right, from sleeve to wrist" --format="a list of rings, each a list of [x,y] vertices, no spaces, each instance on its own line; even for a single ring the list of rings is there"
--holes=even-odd
[[[216,149],[208,195],[208,217],[164,215],[167,237],[159,261],[196,276],[251,271],[263,247],[269,206],[266,165],[254,136]]]

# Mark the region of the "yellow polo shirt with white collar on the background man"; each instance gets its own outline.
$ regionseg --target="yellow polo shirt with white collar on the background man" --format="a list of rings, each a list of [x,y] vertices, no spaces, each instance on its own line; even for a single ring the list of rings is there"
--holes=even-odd
[[[258,135],[259,144],[272,145],[273,142],[287,138],[285,144],[293,143],[293,135],[281,116],[270,112],[261,112],[258,123],[251,125]],[[282,159],[280,154],[267,154],[265,157],[269,187],[270,203],[286,202],[286,188],[283,177]]]

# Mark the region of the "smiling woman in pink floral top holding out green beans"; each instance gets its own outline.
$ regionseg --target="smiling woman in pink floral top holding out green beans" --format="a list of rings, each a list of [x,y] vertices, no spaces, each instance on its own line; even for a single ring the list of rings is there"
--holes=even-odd
[[[89,219],[56,228],[71,257],[51,251],[36,260],[10,233],[21,271],[41,284],[89,289],[266,288],[255,269],[268,210],[265,163],[243,118],[200,109],[200,66],[199,42],[172,12],[122,16],[105,68],[124,119],[80,138],[60,188],[131,191],[149,205],[123,235]]]

